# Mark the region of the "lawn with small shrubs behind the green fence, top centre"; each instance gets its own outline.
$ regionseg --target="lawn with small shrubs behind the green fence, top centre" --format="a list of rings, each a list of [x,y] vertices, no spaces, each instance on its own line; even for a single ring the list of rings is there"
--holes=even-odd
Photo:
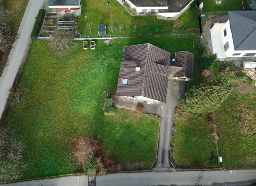
[[[82,14],[78,20],[78,29],[81,34],[88,36],[98,35],[98,24],[106,24],[107,35],[128,35],[128,34],[174,34],[186,33],[186,29],[198,26],[198,20],[190,18],[190,10],[186,10],[178,20],[181,28],[174,30],[173,20],[158,20],[156,16],[131,16],[125,8],[116,0],[109,0],[109,8],[106,8],[107,1],[86,0],[82,1]],[[85,18],[87,16],[87,18]],[[86,28],[86,24],[92,22],[92,33]],[[110,25],[118,27],[112,33],[108,28]],[[137,26],[134,32],[134,26]],[[119,26],[123,26],[125,32],[119,32]],[[199,31],[198,31],[199,33]]]

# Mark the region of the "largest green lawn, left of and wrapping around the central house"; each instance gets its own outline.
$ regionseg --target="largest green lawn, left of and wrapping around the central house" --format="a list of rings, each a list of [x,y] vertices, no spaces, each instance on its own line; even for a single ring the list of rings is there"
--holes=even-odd
[[[159,121],[118,109],[104,116],[102,93],[116,91],[124,46],[150,42],[172,52],[192,49],[192,38],[126,38],[111,45],[96,40],[95,50],[84,50],[82,41],[57,58],[48,41],[34,41],[19,85],[30,91],[25,102],[10,108],[6,123],[13,137],[26,145],[28,169],[23,179],[80,172],[72,151],[79,136],[100,136],[107,156],[118,163],[144,161],[150,169],[155,158]]]

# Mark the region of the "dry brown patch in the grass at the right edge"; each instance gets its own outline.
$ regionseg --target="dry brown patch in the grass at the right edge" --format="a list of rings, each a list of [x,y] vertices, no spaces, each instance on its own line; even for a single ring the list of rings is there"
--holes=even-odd
[[[243,119],[238,125],[240,126],[241,133],[248,138],[253,133],[256,133],[256,114],[249,108],[243,108],[242,117]],[[254,138],[256,138],[256,135],[254,135]]]

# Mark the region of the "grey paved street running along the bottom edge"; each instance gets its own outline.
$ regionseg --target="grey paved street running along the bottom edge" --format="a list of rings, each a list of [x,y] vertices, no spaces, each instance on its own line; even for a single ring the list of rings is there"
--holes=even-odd
[[[88,179],[88,176],[34,180],[5,186],[195,186],[249,185],[256,182],[256,170],[144,172],[108,174]],[[93,180],[93,181],[92,181]]]

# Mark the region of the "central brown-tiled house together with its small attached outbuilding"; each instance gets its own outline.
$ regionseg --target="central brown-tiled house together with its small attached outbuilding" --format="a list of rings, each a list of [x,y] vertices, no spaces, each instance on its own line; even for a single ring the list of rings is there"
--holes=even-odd
[[[174,78],[193,78],[193,65],[192,69],[186,65],[191,65],[194,54],[176,52],[176,58],[176,62],[170,62],[170,52],[149,43],[125,46],[116,96],[147,102],[166,102],[170,72]],[[173,65],[170,66],[170,63]]]

